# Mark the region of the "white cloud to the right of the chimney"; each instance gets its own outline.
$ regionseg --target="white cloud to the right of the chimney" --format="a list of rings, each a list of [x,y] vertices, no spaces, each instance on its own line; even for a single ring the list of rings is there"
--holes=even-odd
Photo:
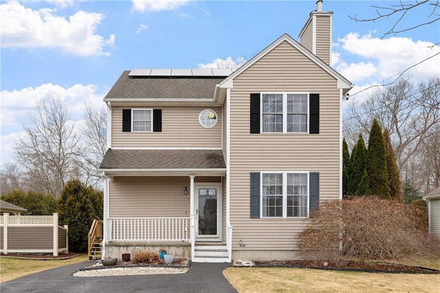
[[[349,33],[338,39],[338,42],[342,44],[338,50],[345,50],[366,61],[366,63],[360,61],[350,65],[342,63],[336,67],[349,80],[351,78],[360,80],[362,75],[364,77],[371,75],[371,80],[381,82],[440,52],[440,47],[434,46],[433,43],[412,41],[406,37],[380,39],[373,38],[371,34],[359,36],[359,34]],[[346,70],[345,73],[344,70]],[[360,72],[362,70],[366,72]],[[413,67],[410,72],[416,81],[439,75],[440,55]]]

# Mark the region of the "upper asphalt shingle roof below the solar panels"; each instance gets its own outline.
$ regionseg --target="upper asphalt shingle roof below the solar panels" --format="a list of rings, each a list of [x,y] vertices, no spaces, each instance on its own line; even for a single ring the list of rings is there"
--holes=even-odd
[[[131,78],[130,71],[111,87],[106,99],[206,99],[214,96],[215,85],[224,78]]]

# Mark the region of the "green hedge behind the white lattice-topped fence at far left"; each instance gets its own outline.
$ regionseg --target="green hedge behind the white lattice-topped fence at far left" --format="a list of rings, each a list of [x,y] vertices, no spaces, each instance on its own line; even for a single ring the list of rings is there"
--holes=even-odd
[[[27,210],[21,215],[52,215],[56,212],[56,199],[52,195],[44,193],[14,189],[1,199],[10,204],[26,208]]]

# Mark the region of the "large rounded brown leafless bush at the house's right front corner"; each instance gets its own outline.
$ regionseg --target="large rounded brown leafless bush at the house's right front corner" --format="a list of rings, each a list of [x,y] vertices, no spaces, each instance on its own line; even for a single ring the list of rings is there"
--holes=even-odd
[[[440,257],[440,239],[428,235],[426,208],[378,197],[329,201],[311,213],[300,233],[305,259],[429,259]]]

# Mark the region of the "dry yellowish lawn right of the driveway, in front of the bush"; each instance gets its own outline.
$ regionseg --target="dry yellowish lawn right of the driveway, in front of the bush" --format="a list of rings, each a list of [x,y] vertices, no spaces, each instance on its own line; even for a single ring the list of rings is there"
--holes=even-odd
[[[405,264],[440,268],[440,260]],[[239,292],[439,292],[440,274],[384,274],[302,268],[227,268]]]

